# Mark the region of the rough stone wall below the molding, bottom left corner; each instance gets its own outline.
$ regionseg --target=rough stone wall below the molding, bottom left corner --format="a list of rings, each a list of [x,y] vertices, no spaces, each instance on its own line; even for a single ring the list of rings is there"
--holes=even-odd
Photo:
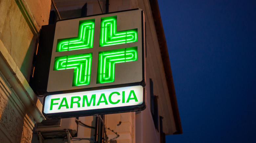
[[[33,121],[8,80],[0,74],[0,142],[31,142]]]

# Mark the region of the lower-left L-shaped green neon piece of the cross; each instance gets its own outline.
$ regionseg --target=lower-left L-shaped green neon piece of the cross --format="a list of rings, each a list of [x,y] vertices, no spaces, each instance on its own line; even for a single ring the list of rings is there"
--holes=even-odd
[[[57,56],[54,60],[53,70],[74,69],[72,86],[90,84],[92,68],[92,53]]]

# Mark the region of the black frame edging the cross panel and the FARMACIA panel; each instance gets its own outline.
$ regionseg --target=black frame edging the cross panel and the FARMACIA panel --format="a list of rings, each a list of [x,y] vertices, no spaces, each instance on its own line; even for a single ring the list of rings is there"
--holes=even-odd
[[[141,111],[146,108],[146,98],[145,98],[145,20],[144,20],[144,13],[142,9],[131,9],[131,10],[141,10],[141,58],[142,58],[142,80],[139,82],[133,82],[133,83],[124,83],[124,84],[115,84],[115,85],[107,85],[107,86],[97,86],[97,87],[87,87],[87,88],[80,88],[80,89],[71,89],[71,90],[62,90],[62,91],[53,91],[53,92],[48,92],[47,89],[47,83],[48,83],[48,78],[46,80],[46,86],[45,86],[45,95],[44,100],[43,100],[43,115],[46,118],[70,118],[70,117],[79,117],[79,116],[93,116],[93,115],[102,115],[102,114],[113,114],[113,113],[124,113],[124,112],[133,112],[133,111]],[[124,11],[118,11],[118,12],[111,12],[107,14],[113,14],[113,13],[119,13],[119,12],[126,12],[126,11],[131,11],[131,10],[124,10]],[[101,16],[101,15],[107,15],[107,14],[97,14],[97,15],[91,15],[91,16],[86,16],[84,18],[91,18],[94,16]],[[81,18],[81,17],[79,17]],[[77,19],[77,18],[74,18]],[[68,19],[71,20],[71,19]],[[64,20],[60,20],[64,21]],[[56,25],[56,24],[55,24]],[[52,26],[53,27],[53,26]],[[52,28],[53,29],[53,28]],[[55,29],[54,29],[55,30]],[[53,37],[54,37],[54,32],[53,32]],[[53,42],[52,46],[53,48]],[[139,47],[138,47],[139,48]],[[51,54],[52,55],[52,54]],[[48,55],[49,57],[49,55]],[[50,71],[50,64],[49,64],[49,69]],[[48,75],[49,75],[48,71]],[[112,107],[112,108],[103,108],[103,109],[93,109],[93,110],[83,110],[83,111],[72,111],[72,112],[61,112],[61,113],[50,113],[46,114],[44,113],[44,107],[45,107],[45,99],[49,95],[61,95],[65,93],[75,93],[75,92],[81,92],[81,91],[94,91],[94,90],[100,90],[100,89],[112,89],[112,88],[118,88],[118,87],[131,87],[131,86],[142,86],[143,87],[143,103],[140,105],[132,105],[132,106],[122,106],[122,107]],[[35,90],[34,90],[35,91]]]

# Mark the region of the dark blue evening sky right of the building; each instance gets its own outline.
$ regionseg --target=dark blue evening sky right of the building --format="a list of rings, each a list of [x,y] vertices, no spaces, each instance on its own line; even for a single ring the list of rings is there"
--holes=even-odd
[[[256,142],[256,0],[159,0],[183,129],[172,143]]]

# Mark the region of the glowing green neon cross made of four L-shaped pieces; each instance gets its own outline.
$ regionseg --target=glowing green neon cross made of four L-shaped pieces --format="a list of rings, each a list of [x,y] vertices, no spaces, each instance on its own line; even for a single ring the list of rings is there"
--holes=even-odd
[[[58,39],[56,52],[93,48],[95,19],[79,21],[78,36]],[[117,16],[101,18],[99,46],[138,41],[138,29],[116,31]],[[97,84],[115,80],[115,64],[136,61],[138,48],[130,47],[98,52]],[[72,86],[90,84],[92,53],[55,57],[53,70],[74,69]]]

